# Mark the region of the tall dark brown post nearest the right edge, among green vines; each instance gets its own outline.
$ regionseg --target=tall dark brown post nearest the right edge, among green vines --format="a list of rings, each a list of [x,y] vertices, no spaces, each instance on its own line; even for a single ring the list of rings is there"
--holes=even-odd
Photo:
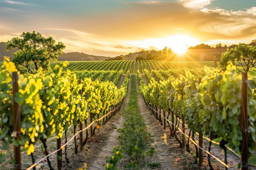
[[[241,151],[241,170],[248,170],[248,115],[247,115],[247,73],[242,73],[241,82],[241,130],[243,139],[240,144]]]

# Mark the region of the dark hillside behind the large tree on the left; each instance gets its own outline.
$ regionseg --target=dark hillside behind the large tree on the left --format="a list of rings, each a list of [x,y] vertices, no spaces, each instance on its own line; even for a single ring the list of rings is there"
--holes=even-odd
[[[4,60],[4,56],[10,57],[13,59],[13,53],[18,51],[18,49],[6,51],[6,45],[4,42],[0,42],[0,61]],[[85,53],[63,53],[61,57],[58,57],[58,61],[92,61],[92,60],[107,60],[110,57],[97,56],[97,55],[89,55]]]

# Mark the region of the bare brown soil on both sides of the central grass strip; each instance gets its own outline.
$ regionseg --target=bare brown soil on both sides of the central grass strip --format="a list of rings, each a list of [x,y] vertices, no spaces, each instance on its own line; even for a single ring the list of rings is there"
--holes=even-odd
[[[145,78],[145,77],[144,77]],[[156,167],[155,170],[209,170],[208,161],[207,161],[207,154],[203,153],[203,166],[198,167],[198,164],[194,164],[195,161],[195,147],[190,142],[190,153],[186,151],[186,149],[180,148],[180,144],[177,140],[170,135],[170,129],[167,128],[164,130],[163,126],[160,124],[159,121],[155,118],[154,115],[150,114],[146,104],[144,102],[143,96],[139,94],[138,85],[139,82],[137,80],[137,92],[139,97],[139,106],[140,112],[145,119],[146,126],[148,126],[148,130],[151,134],[152,146],[155,147],[155,154],[153,158],[145,160],[146,163],[160,163],[159,167]],[[67,145],[67,157],[70,163],[67,163],[65,160],[64,150],[62,151],[62,170],[77,170],[79,168],[84,168],[85,163],[87,164],[88,170],[105,170],[105,166],[107,164],[106,160],[107,157],[113,156],[113,147],[119,145],[118,136],[119,132],[117,129],[122,128],[123,124],[123,117],[121,113],[126,109],[128,105],[129,99],[129,92],[130,92],[130,82],[128,84],[128,93],[124,98],[123,105],[121,109],[118,111],[115,117],[112,117],[110,121],[104,126],[101,126],[100,130],[96,130],[96,134],[94,137],[90,139],[88,144],[85,144],[83,150],[78,152],[77,155],[74,153],[74,139]],[[73,128],[72,128],[73,129]],[[189,130],[186,129],[186,134],[189,133]],[[69,132],[69,136],[72,136],[73,131]],[[164,134],[167,135],[167,144],[164,142]],[[182,134],[177,131],[177,137],[181,140]],[[63,135],[64,136],[64,135]],[[79,135],[78,135],[79,136]],[[84,132],[85,137],[85,132]],[[77,138],[78,139],[78,138]],[[196,139],[196,138],[195,138]],[[197,141],[197,139],[196,139]],[[62,140],[62,144],[64,144],[65,140]],[[79,139],[77,140],[79,144]],[[198,141],[197,141],[198,143]],[[208,141],[204,140],[203,148],[208,150]],[[47,142],[49,153],[56,150],[56,140],[48,141]],[[224,155],[222,150],[215,144],[211,147],[211,154],[215,155],[221,161],[224,161]],[[43,158],[43,153],[41,148],[38,147],[35,149],[34,152],[36,162]],[[52,166],[55,170],[57,170],[57,163],[56,163],[56,155],[52,155],[49,157]],[[229,169],[236,170],[237,163],[240,161],[238,157],[236,157],[232,152],[228,153],[227,156]],[[26,154],[22,155],[22,169],[27,169],[31,165],[31,157],[27,156]],[[215,159],[211,157],[211,164],[214,170],[224,170],[225,167],[222,164],[218,163]],[[6,170],[11,169],[8,165]],[[2,170],[5,170],[1,167]],[[46,159],[41,161],[36,165],[37,170],[48,170],[49,166],[47,165]],[[143,170],[150,170],[151,168],[145,166]],[[253,167],[251,167],[253,170]]]

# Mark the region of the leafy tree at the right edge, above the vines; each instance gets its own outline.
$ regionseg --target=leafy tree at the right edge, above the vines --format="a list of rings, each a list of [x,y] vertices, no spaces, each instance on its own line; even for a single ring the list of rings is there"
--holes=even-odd
[[[222,53],[219,67],[225,70],[227,62],[237,62],[234,65],[242,66],[243,71],[237,69],[240,72],[247,73],[249,68],[254,67],[256,63],[256,46],[249,46],[244,43],[238,44],[234,49],[227,49],[225,53]]]

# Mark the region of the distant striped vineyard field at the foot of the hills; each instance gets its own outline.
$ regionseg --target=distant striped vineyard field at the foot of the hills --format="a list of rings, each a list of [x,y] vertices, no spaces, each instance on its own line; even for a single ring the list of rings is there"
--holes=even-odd
[[[51,63],[54,68],[60,62]],[[156,60],[123,60],[123,61],[81,61],[69,62],[69,65],[64,68],[70,71],[123,71],[130,74],[143,73],[144,68],[149,72],[152,70],[169,70],[176,68],[204,68],[204,66],[213,67],[213,62],[170,62],[170,61],[156,61]]]

